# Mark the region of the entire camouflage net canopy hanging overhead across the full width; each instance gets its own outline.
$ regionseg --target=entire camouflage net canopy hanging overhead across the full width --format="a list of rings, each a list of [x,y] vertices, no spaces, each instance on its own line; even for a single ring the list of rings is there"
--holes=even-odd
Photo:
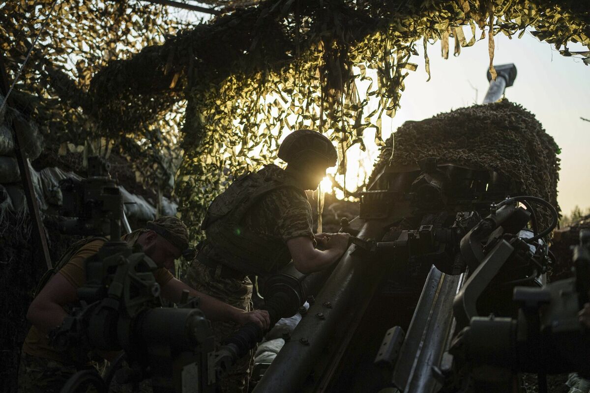
[[[222,9],[234,9],[227,3]],[[183,152],[176,194],[183,219],[194,226],[233,174],[276,158],[286,131],[314,128],[332,138],[341,173],[346,151],[362,147],[366,129],[375,128],[382,143],[381,119],[395,114],[404,78],[417,68],[411,57],[423,55],[430,74],[429,44],[440,41],[448,57],[486,38],[491,64],[493,35],[520,37],[528,28],[573,55],[568,42],[590,44],[585,3],[263,0],[181,29],[163,8],[145,2],[64,0],[56,9],[65,20],[49,24],[17,87],[35,104],[35,120],[53,124],[44,128],[51,140],[79,141],[82,134],[95,150],[114,145],[148,185],[167,183]],[[18,39],[22,26],[38,31],[53,4],[4,5],[0,31],[9,39],[1,45],[12,72],[27,51]],[[474,36],[476,26],[481,37]],[[67,47],[65,35],[73,37]],[[577,55],[590,62],[589,52]],[[369,81],[368,88],[359,91],[359,81]],[[369,110],[369,100],[377,107]]]

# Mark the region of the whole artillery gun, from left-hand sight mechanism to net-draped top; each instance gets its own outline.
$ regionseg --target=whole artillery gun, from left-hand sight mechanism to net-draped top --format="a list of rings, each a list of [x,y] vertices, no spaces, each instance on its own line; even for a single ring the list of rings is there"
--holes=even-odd
[[[494,82],[489,97],[499,98],[503,91],[497,88],[499,83],[511,85],[516,76],[513,65],[498,69],[505,83]],[[499,113],[514,109],[506,103],[489,105],[495,105]],[[486,110],[486,105],[471,114],[490,124],[492,119],[489,113],[481,115],[482,108]],[[406,135],[417,134],[409,131]],[[487,131],[474,132],[474,140],[481,142],[483,135],[490,134]],[[532,144],[526,141],[529,134],[521,133],[520,139],[512,135],[506,138],[508,144],[501,134],[492,135],[487,150],[468,155],[468,162],[457,158],[464,153],[460,138],[453,141],[454,150],[444,146],[445,154],[427,157],[396,147],[361,194],[359,217],[342,222],[342,231],[354,237],[340,262],[309,276],[290,266],[267,280],[264,308],[271,323],[296,313],[306,299],[310,308],[254,393],[517,391],[518,372],[537,372],[542,377],[553,371],[546,356],[536,361],[531,356],[546,355],[548,348],[563,343],[587,345],[586,336],[575,330],[579,326],[572,322],[572,315],[587,289],[588,243],[582,243],[576,254],[579,271],[585,273],[573,283],[544,289],[550,254],[543,237],[555,226],[557,212],[539,197],[510,197],[531,190],[543,194],[543,187],[535,188],[540,181],[536,174],[543,166],[534,158],[555,157],[555,146],[542,129],[537,131],[533,136],[541,147],[536,146],[537,156],[519,155],[518,160],[528,157],[529,162],[512,173],[514,165],[507,156],[520,154],[512,151],[520,145]],[[398,134],[399,141],[404,141],[404,133]],[[444,140],[423,142],[435,146]],[[466,143],[469,146],[471,141]],[[501,148],[496,146],[502,143]],[[391,151],[385,150],[387,154]],[[500,162],[490,163],[493,158]],[[556,175],[546,183],[549,192],[543,196],[555,199]],[[535,209],[535,204],[545,209]],[[116,212],[120,208],[111,209],[112,220],[120,218]],[[112,228],[118,235],[116,223],[112,222]],[[108,249],[87,261],[87,269],[93,267],[89,271],[94,280],[89,278],[89,283],[94,286],[81,289],[80,295],[94,303],[74,315],[70,328],[61,332],[64,340],[74,333],[77,342],[82,338],[109,346],[104,349],[124,349],[138,365],[136,381],[151,377],[154,391],[215,391],[219,375],[253,348],[263,332],[253,324],[242,326],[215,351],[198,309],[160,308],[157,290],[143,290],[154,288],[149,275],[143,280],[140,299],[127,302],[133,299],[119,296],[115,300],[123,300],[113,308],[105,283],[133,273],[140,260],[146,262],[129,250],[118,252],[125,253],[118,265]],[[555,306],[564,289],[571,293],[566,307]],[[513,301],[513,292],[520,303]],[[542,312],[545,302],[553,304],[551,312]],[[154,318],[149,319],[150,315]],[[172,315],[178,318],[169,318]],[[563,321],[568,323],[560,334],[547,331],[546,326]],[[178,333],[169,335],[169,331]],[[501,333],[489,341],[497,348],[486,345],[490,332]],[[162,341],[162,334],[168,341]],[[111,341],[101,342],[104,338]],[[541,345],[541,338],[550,338],[552,346]],[[540,349],[523,352],[530,346]],[[587,361],[579,356],[564,362],[559,371],[585,371],[578,366]],[[96,379],[96,375],[75,375],[64,392],[73,391],[84,378]]]

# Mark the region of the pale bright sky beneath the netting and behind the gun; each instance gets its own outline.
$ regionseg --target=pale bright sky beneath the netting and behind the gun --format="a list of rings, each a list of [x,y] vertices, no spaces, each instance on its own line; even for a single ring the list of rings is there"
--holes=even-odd
[[[177,12],[186,13],[185,17],[195,22],[210,17],[198,12]],[[464,28],[464,32],[468,41],[471,31]],[[477,29],[476,38],[480,35]],[[582,60],[563,57],[553,45],[540,42],[530,32],[520,39],[516,35],[510,39],[499,34],[494,41],[494,64],[514,63],[517,68],[516,80],[506,89],[506,98],[533,113],[561,149],[558,203],[562,213],[569,214],[576,205],[582,209],[590,207],[590,122],[581,119],[590,119],[590,66]],[[440,42],[428,45],[431,71],[428,82],[423,48],[417,45],[420,55],[410,61],[417,63],[418,69],[409,71],[405,78],[401,108],[395,117],[383,120],[383,140],[407,120],[422,120],[483,102],[489,85],[487,38],[472,47],[461,48],[457,57],[453,56],[452,38],[449,44],[451,52],[447,60],[440,55]],[[579,44],[568,47],[571,51],[588,50]],[[346,182],[350,190],[356,188],[357,179],[365,179],[378,157],[374,135],[371,130],[365,133],[366,152],[361,152],[358,146],[349,150]],[[340,177],[336,179],[342,183]]]

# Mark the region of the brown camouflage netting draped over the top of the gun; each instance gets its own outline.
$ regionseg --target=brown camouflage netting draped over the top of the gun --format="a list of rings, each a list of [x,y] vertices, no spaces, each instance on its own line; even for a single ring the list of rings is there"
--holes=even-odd
[[[395,147],[392,150],[392,147]],[[422,121],[407,121],[386,141],[369,184],[383,166],[417,164],[429,157],[510,177],[527,195],[556,206],[559,147],[520,105],[502,100],[441,113]],[[549,212],[539,207],[539,225],[550,223]]]

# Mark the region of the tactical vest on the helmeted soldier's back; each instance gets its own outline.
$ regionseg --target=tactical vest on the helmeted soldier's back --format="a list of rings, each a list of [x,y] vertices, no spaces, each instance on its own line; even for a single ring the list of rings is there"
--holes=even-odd
[[[223,265],[245,274],[266,276],[291,260],[289,248],[280,236],[269,241],[244,226],[245,214],[270,191],[291,188],[306,197],[294,180],[276,176],[273,171],[277,170],[281,169],[267,165],[258,172],[243,174],[207,209],[201,224],[207,233],[204,248],[221,256],[224,260],[219,262]]]

